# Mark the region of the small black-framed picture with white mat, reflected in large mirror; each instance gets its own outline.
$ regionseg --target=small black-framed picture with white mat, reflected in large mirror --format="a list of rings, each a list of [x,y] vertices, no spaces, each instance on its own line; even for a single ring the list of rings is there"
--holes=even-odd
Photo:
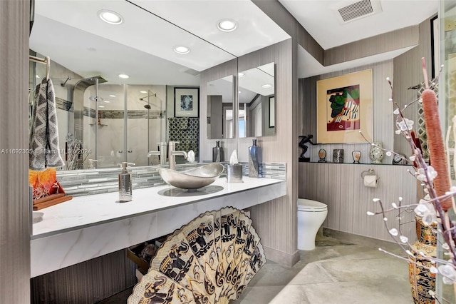
[[[199,117],[199,88],[174,88],[174,116]]]

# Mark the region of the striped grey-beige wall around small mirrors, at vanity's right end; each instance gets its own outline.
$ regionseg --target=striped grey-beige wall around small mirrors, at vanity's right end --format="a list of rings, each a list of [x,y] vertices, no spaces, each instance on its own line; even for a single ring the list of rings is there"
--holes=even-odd
[[[252,208],[254,227],[261,237],[266,257],[284,265],[292,265],[299,258],[296,244],[296,199],[297,199],[297,132],[295,127],[299,112],[297,107],[297,76],[296,69],[297,44],[288,39],[278,44],[254,51],[237,59],[237,69],[245,71],[256,66],[276,64],[276,134],[258,138],[263,149],[263,161],[284,162],[287,165],[287,195],[269,203]],[[202,117],[207,115],[206,84],[217,78],[234,74],[234,66],[217,66],[203,71],[201,74]],[[224,70],[224,72],[223,72]],[[237,95],[237,94],[236,94]],[[201,131],[205,134],[207,121],[201,121]],[[230,141],[229,141],[230,142]],[[200,140],[202,160],[210,160],[210,151],[214,141]],[[252,146],[252,138],[234,140],[239,161],[248,161],[248,147]]]

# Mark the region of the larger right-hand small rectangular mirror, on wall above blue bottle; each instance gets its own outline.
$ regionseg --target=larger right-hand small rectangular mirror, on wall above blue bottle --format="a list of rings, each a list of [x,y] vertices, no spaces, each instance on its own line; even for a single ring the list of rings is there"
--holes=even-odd
[[[274,62],[239,72],[239,137],[275,134]]]

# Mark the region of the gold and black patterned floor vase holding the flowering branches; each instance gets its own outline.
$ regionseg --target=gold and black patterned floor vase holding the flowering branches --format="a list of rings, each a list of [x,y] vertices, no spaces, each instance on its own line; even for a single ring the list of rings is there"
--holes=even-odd
[[[428,257],[436,257],[437,237],[435,230],[432,230],[436,229],[436,226],[425,226],[418,217],[415,217],[415,221],[418,240],[412,244],[414,256],[408,256],[411,262],[408,263],[410,288],[415,304],[435,304],[435,299],[429,295],[430,290],[435,291],[435,274],[428,270],[432,263],[423,260],[418,253],[423,252]]]

